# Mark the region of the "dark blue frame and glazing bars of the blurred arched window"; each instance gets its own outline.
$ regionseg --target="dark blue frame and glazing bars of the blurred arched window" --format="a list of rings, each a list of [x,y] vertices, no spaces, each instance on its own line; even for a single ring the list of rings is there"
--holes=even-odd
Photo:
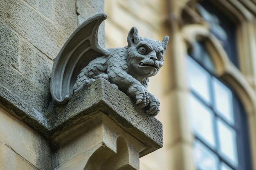
[[[203,42],[204,44],[204,42]],[[207,48],[204,44],[204,49],[207,51]],[[198,94],[193,89],[189,88],[191,95],[193,95],[204,107],[206,106],[208,109],[211,110],[211,112],[214,115],[213,119],[213,132],[214,137],[216,138],[216,148],[211,148],[209,144],[207,144],[204,139],[202,139],[200,136],[194,134],[194,139],[200,141],[205,147],[207,147],[211,152],[213,152],[218,157],[218,169],[220,170],[220,163],[224,162],[227,164],[230,168],[233,170],[252,170],[252,163],[251,163],[251,157],[248,155],[251,155],[249,150],[249,134],[248,134],[248,127],[247,127],[247,119],[246,119],[246,113],[245,109],[243,109],[243,105],[240,102],[238,96],[236,95],[235,91],[222,79],[220,79],[215,73],[213,73],[211,70],[209,70],[204,64],[198,60],[196,57],[193,57],[193,55],[189,55],[187,57],[191,57],[192,60],[194,60],[198,65],[200,65],[205,71],[209,73],[211,78],[208,80],[208,86],[210,90],[210,98],[211,98],[211,105],[208,104],[208,102],[203,99],[200,94]],[[211,57],[211,55],[210,55]],[[220,82],[222,82],[225,86],[227,86],[232,93],[232,106],[233,106],[233,113],[234,113],[234,125],[230,124],[225,118],[223,118],[219,113],[216,112],[216,108],[214,108],[214,98],[213,98],[213,77],[218,79]],[[236,96],[236,97],[235,97]],[[243,109],[243,116],[239,111]],[[239,111],[238,111],[239,110]],[[243,119],[241,119],[243,117]],[[236,148],[237,148],[237,161],[238,166],[234,166],[231,162],[229,162],[225,156],[222,156],[219,152],[220,144],[218,139],[218,128],[217,128],[217,119],[220,119],[221,121],[225,122],[228,126],[230,126],[232,129],[236,132]],[[239,122],[238,122],[239,121]],[[243,128],[240,128],[240,126],[243,125]],[[241,147],[243,146],[243,147]],[[245,152],[247,153],[245,153]],[[247,158],[245,157],[247,155]],[[241,166],[240,166],[241,165]],[[198,168],[198,167],[197,167]],[[199,168],[198,168],[199,169]],[[199,169],[200,170],[200,169]]]

